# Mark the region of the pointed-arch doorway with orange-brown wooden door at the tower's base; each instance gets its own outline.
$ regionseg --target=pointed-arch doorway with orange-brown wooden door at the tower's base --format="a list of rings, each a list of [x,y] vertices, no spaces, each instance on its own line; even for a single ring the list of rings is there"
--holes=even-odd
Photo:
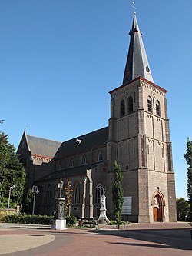
[[[154,222],[164,222],[164,195],[157,191],[152,199]]]

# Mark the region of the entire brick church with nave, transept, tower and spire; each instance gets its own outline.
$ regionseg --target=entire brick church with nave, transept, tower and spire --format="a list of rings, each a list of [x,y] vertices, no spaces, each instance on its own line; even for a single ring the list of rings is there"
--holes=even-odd
[[[111,94],[108,127],[58,142],[27,135],[18,146],[28,189],[38,186],[35,214],[53,214],[58,181],[71,181],[71,214],[98,218],[105,191],[113,217],[114,160],[123,172],[122,219],[177,221],[167,91],[154,84],[134,13],[123,84]]]

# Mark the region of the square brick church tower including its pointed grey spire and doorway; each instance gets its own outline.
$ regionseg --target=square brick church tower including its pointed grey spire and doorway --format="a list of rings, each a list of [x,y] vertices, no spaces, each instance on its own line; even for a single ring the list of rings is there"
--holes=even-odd
[[[129,35],[123,85],[110,91],[108,218],[117,160],[124,176],[124,220],[177,221],[167,91],[154,84],[135,13]]]

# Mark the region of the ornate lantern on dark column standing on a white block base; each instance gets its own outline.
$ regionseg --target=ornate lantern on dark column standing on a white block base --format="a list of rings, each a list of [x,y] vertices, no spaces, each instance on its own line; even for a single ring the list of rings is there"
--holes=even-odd
[[[64,182],[60,178],[58,182],[58,198],[55,198],[57,204],[56,211],[56,220],[55,220],[55,229],[61,230],[66,229],[66,220],[64,216],[64,208],[65,208],[65,198],[61,197],[61,190],[63,188]]]

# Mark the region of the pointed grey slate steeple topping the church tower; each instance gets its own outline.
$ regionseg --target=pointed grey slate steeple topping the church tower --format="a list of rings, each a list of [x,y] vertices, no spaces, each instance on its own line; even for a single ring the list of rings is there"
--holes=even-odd
[[[131,40],[124,70],[123,85],[138,76],[154,82],[135,12],[132,29],[129,35],[131,36]]]

